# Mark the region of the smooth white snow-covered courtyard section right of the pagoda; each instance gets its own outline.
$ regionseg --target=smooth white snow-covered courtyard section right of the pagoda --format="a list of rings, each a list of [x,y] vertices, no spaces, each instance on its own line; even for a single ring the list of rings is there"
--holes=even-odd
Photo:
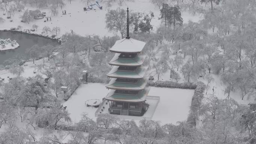
[[[160,96],[160,102],[152,117],[161,124],[186,120],[191,106],[194,90],[151,87],[149,95]]]

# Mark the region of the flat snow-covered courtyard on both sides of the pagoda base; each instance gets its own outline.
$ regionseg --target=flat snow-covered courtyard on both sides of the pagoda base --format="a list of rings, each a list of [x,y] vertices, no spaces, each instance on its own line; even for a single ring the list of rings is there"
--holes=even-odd
[[[81,84],[74,94],[63,103],[67,106],[70,117],[73,122],[78,122],[81,119],[81,114],[87,113],[88,117],[96,120],[95,112],[97,108],[86,107],[85,101],[88,99],[102,99],[107,95],[108,90],[106,84],[88,83]],[[171,88],[156,88],[151,87],[149,95],[159,96],[160,101],[158,106],[150,108],[145,113],[150,116],[153,113],[152,120],[159,120],[162,124],[173,123],[186,120],[190,110],[194,90],[188,89],[171,89]],[[154,100],[147,99],[148,103],[154,103]],[[107,108],[105,108],[107,109]],[[155,111],[155,113],[154,113]],[[148,113],[148,114],[147,114]],[[123,117],[121,117],[122,119]],[[128,119],[140,120],[138,117],[129,117]]]

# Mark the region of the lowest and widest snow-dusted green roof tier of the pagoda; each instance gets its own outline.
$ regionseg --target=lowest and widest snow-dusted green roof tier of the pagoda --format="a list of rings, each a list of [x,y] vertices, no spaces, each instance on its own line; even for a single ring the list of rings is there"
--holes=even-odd
[[[147,94],[149,93],[150,87],[144,88],[138,92],[138,95],[127,95],[127,94],[115,94],[115,90],[112,89],[109,94],[105,97],[110,101],[122,101],[122,102],[143,102],[145,101]]]

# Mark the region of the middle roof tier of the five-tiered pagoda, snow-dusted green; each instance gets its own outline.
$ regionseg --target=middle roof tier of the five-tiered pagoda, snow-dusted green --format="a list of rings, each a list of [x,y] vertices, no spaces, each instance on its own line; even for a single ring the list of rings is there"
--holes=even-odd
[[[107,74],[113,78],[141,79],[145,76],[148,66],[140,66],[135,71],[119,71],[119,66],[113,66],[112,70]]]

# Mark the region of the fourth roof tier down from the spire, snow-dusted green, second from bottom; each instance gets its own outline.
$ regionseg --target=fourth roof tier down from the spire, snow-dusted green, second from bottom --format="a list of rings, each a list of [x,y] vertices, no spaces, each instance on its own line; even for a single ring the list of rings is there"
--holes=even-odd
[[[116,82],[116,78],[112,78],[106,87],[109,89],[140,91],[145,88],[148,79],[149,77],[143,77],[137,83],[120,83]]]

